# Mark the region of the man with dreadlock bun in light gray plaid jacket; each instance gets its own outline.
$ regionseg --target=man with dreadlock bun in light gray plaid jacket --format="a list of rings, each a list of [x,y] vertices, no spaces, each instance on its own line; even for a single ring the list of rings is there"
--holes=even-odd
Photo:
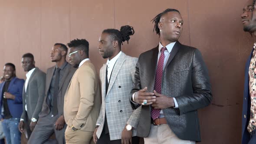
[[[139,109],[133,111],[130,104],[138,58],[121,51],[122,42],[128,43],[133,34],[133,27],[121,26],[120,31],[105,29],[99,37],[99,53],[108,60],[100,69],[102,106],[93,135],[97,144],[139,144],[135,130]]]

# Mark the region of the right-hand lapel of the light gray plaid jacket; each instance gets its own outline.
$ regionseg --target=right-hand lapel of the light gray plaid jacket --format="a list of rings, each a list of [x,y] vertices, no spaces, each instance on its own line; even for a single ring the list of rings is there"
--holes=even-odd
[[[109,85],[108,85],[108,92],[111,90],[111,88],[115,82],[115,79],[118,75],[118,72],[120,71],[122,64],[125,62],[125,58],[126,58],[126,55],[124,52],[122,52],[121,55],[119,56],[119,58],[117,59],[117,61],[115,62],[115,66],[112,70],[111,78],[110,78]],[[108,92],[107,92],[107,95],[108,95]]]

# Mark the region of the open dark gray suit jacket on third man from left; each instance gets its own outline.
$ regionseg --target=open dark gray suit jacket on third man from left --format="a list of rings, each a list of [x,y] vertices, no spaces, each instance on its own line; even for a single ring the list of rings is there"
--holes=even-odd
[[[69,82],[72,79],[72,76],[74,75],[75,70],[76,70],[76,68],[73,68],[72,65],[70,65],[69,63],[66,66],[67,66],[67,69],[65,69],[66,72],[64,72],[65,74],[62,76],[62,79],[60,79],[60,81],[59,81],[59,93],[58,93],[58,98],[57,98],[58,115],[59,116],[63,115],[64,95],[69,86]],[[47,104],[46,99],[47,99],[47,94],[48,94],[48,91],[49,91],[49,88],[51,85],[55,67],[56,66],[53,66],[53,67],[47,69],[45,96],[44,96],[44,101],[43,101],[42,112],[39,114],[39,117],[46,116],[50,112],[50,105]]]

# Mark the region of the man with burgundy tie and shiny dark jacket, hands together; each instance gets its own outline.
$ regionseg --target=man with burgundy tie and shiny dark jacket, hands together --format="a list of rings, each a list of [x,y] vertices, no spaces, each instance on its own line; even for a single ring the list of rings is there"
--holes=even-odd
[[[212,100],[207,67],[198,49],[178,42],[178,10],[164,10],[153,23],[160,43],[139,56],[131,90],[131,105],[141,107],[137,135],[145,144],[194,144],[201,141],[197,109]]]

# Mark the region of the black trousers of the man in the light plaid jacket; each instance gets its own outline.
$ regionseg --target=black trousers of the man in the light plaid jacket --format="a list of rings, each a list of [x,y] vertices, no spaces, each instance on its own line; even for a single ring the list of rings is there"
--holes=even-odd
[[[132,137],[132,144],[139,144],[140,137]],[[97,144],[121,144],[121,139],[110,141],[109,134],[104,134],[99,137]]]

